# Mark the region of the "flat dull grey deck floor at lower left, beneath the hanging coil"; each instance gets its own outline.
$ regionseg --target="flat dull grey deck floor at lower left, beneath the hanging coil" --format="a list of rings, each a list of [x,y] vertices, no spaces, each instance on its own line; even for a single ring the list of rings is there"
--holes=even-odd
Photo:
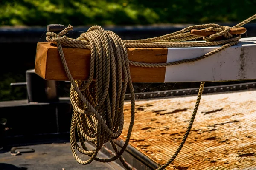
[[[89,146],[90,148],[90,144]],[[0,153],[0,170],[125,170],[116,162],[102,163],[93,161],[88,165],[81,165],[73,158],[70,143],[34,144],[29,146],[34,153],[22,153],[11,156],[10,152]],[[91,146],[90,149],[93,149]],[[78,154],[79,158],[87,160],[88,156]],[[99,157],[107,158],[102,152]]]

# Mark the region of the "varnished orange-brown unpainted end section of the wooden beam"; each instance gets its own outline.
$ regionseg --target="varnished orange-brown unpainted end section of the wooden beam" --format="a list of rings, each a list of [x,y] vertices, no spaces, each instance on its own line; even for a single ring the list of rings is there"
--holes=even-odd
[[[63,48],[71,75],[86,80],[90,72],[90,50]],[[165,63],[167,48],[128,48],[129,60],[146,63]],[[164,82],[166,68],[143,68],[130,65],[133,82]],[[35,58],[35,73],[46,80],[68,80],[58,49],[49,42],[39,42]]]

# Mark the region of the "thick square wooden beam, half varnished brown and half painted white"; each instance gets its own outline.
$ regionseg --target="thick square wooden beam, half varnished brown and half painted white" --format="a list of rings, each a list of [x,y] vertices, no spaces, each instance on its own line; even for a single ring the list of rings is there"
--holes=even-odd
[[[188,48],[128,48],[131,61],[165,63],[191,59],[219,46]],[[86,80],[90,70],[90,50],[63,48],[74,79]],[[130,65],[133,82],[214,82],[256,79],[256,37],[242,38],[238,45],[209,58],[166,68],[143,68]],[[35,73],[46,80],[68,80],[56,46],[39,42]]]

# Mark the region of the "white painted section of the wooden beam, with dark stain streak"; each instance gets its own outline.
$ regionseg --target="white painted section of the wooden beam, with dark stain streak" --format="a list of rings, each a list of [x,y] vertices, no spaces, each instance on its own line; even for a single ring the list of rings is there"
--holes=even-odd
[[[197,62],[166,67],[165,82],[215,82],[256,79],[256,37]],[[220,46],[168,48],[167,62],[191,59]]]

